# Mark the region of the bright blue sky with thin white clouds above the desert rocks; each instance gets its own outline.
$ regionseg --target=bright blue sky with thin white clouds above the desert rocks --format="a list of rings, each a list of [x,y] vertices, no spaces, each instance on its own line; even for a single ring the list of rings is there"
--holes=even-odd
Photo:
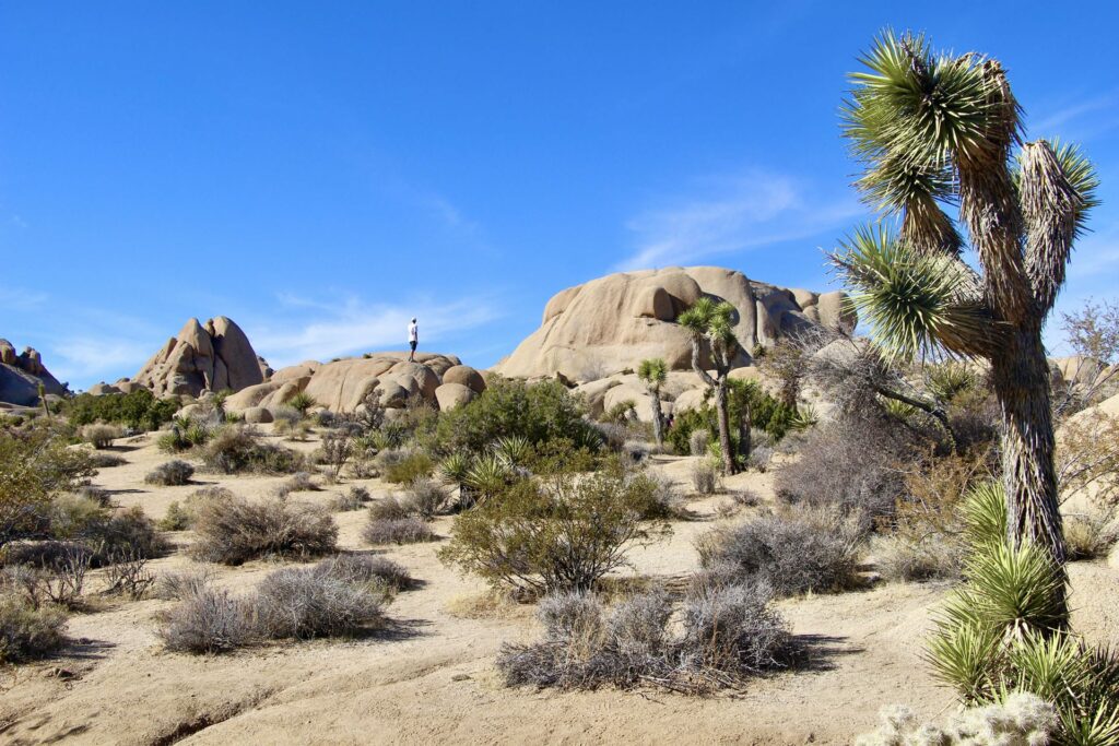
[[[619,268],[826,289],[866,215],[845,73],[885,26],[999,57],[1029,134],[1084,144],[1104,206],[1061,303],[1115,298],[1119,11],[1036,8],[2,2],[0,337],[87,387],[190,317],[279,366],[415,314],[485,367]]]

